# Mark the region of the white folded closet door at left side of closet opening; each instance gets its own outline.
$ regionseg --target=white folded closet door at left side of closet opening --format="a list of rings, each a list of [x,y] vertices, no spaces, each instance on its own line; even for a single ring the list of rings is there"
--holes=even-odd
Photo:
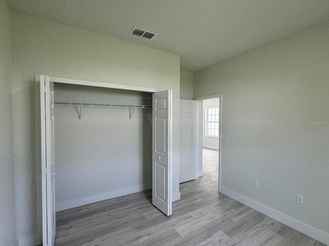
[[[49,81],[49,76],[40,75],[42,230],[44,246],[53,246],[56,235],[53,91],[53,83]]]

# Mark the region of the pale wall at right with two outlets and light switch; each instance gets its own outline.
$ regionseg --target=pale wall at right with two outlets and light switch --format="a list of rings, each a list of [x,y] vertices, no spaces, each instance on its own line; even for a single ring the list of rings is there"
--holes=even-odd
[[[329,233],[329,23],[194,73],[195,97],[217,93],[222,186]]]

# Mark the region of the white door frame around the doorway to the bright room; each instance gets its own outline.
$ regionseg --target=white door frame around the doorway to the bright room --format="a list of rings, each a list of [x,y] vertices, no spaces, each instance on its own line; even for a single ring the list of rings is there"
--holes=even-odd
[[[218,107],[219,110],[219,116],[220,116],[220,122],[219,122],[219,131],[218,131],[218,192],[221,192],[222,187],[222,93],[220,94],[214,94],[209,96],[200,96],[195,97],[193,100],[197,101],[196,104],[196,137],[197,137],[197,161],[201,163],[202,166],[202,148],[203,148],[203,100],[206,99],[213,99],[213,98],[219,98],[220,99],[220,105]],[[198,165],[197,165],[198,166]],[[200,170],[198,170],[200,171]],[[200,175],[200,174],[199,174]]]

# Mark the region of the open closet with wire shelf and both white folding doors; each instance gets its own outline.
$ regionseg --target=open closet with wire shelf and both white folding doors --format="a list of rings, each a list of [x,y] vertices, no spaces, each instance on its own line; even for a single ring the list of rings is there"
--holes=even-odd
[[[171,215],[171,90],[35,81],[43,245],[54,242],[56,211],[124,194],[152,188],[154,206]]]

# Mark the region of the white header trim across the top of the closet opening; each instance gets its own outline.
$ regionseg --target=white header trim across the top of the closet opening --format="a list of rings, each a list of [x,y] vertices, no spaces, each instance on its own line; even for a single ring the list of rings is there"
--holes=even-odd
[[[71,85],[80,85],[80,86],[95,86],[95,87],[113,88],[113,89],[120,89],[120,90],[131,90],[131,91],[144,91],[144,92],[162,91],[162,90],[154,89],[154,88],[126,86],[126,85],[118,85],[118,84],[110,84],[110,83],[102,83],[102,82],[96,82],[96,81],[70,79],[70,78],[50,77],[50,81],[52,81],[54,83],[62,83],[62,84],[71,84]]]

